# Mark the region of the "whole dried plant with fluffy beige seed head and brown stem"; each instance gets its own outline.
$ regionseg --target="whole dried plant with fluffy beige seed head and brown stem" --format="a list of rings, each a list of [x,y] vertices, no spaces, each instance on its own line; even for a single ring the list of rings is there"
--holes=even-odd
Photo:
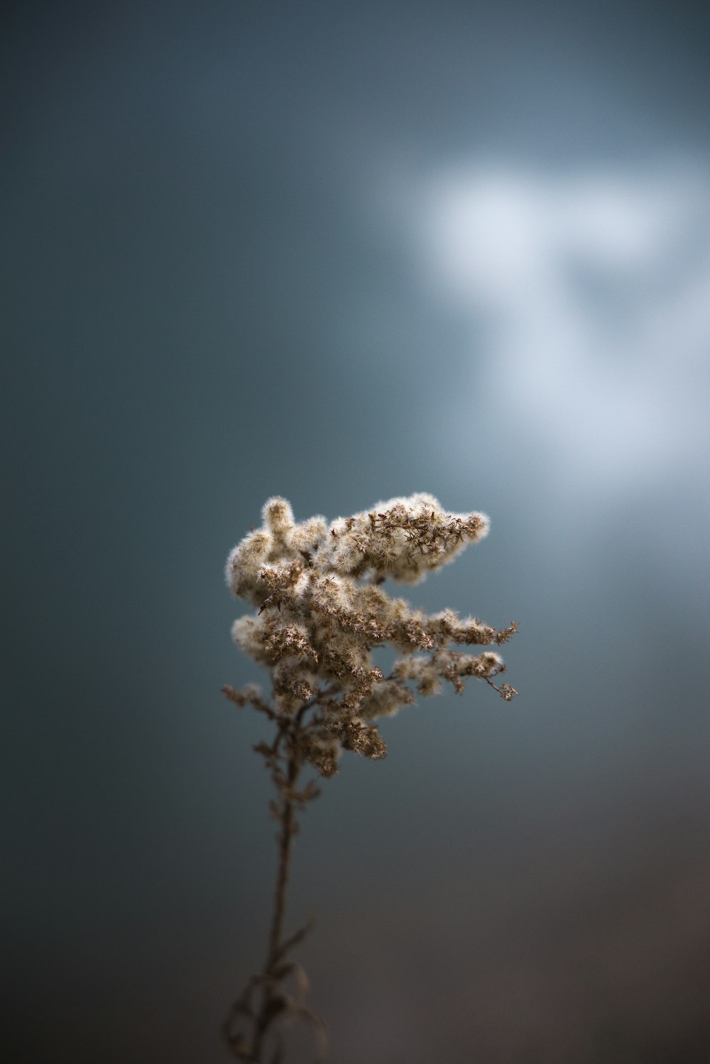
[[[279,861],[268,948],[263,970],[253,976],[225,1024],[233,1055],[243,1062],[283,1060],[281,1020],[300,1017],[314,1028],[320,1059],[323,1021],[304,1003],[307,979],[290,959],[308,928],[284,937],[286,891],[298,814],[318,796],[309,767],[328,778],[343,750],[380,759],[386,748],[379,717],[411,704],[415,695],[435,695],[442,682],[464,689],[468,677],[484,680],[510,701],[517,692],[495,679],[505,670],[491,650],[464,653],[452,646],[506,643],[516,631],[496,629],[452,610],[427,615],[404,599],[392,599],[385,580],[415,584],[450,562],[489,529],[482,514],[447,514],[436,499],[418,494],[391,499],[369,511],[328,523],[312,517],[294,521],[279,496],[263,508],[263,526],[231,552],[227,580],[255,613],[235,621],[237,646],[271,675],[270,698],[257,686],[224,687],[237,706],[251,705],[274,727],[273,741],[259,743],[276,798]],[[389,645],[400,654],[389,676],[371,658]],[[267,1052],[270,1055],[267,1058]]]

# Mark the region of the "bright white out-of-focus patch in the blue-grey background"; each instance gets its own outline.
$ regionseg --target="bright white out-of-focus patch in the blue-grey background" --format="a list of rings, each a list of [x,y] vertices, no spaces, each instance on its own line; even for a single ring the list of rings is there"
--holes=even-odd
[[[705,470],[705,166],[459,167],[415,199],[425,289],[470,320],[472,392],[484,343],[488,394],[505,399],[560,487],[575,479],[617,495]],[[458,395],[462,418],[465,385]]]

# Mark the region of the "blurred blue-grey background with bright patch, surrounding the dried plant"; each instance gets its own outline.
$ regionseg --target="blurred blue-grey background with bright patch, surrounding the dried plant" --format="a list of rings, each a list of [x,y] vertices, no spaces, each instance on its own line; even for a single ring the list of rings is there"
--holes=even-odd
[[[227,553],[427,491],[492,531],[409,597],[517,620],[521,697],[308,812],[329,1059],[710,1060],[707,5],[17,3],[2,49],[7,1059],[229,1059],[275,847]]]

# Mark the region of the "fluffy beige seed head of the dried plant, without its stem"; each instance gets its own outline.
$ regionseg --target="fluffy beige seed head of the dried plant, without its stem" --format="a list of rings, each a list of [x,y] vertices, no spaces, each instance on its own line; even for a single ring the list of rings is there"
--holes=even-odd
[[[446,681],[461,693],[465,679],[475,677],[507,701],[517,694],[494,683],[505,668],[497,653],[455,649],[505,643],[515,625],[497,631],[452,610],[428,615],[381,586],[385,580],[415,584],[450,562],[488,533],[482,514],[448,514],[424,493],[331,523],[323,517],[296,522],[279,496],[262,514],[263,526],[230,553],[227,581],[255,608],[235,621],[232,634],[270,669],[273,703],[255,688],[225,693],[283,726],[297,720],[288,733],[297,736],[300,761],[327,777],[342,749],[384,757],[375,721],[412,703],[412,687],[434,695]],[[371,655],[384,645],[400,655],[387,676]]]

